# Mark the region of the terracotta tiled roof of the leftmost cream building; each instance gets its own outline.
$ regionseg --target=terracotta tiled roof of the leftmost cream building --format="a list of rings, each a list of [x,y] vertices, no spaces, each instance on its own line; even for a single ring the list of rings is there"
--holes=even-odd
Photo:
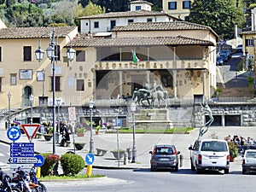
[[[60,27],[9,27],[0,29],[0,39],[14,38],[49,38],[49,33],[55,28],[55,35],[65,37],[77,26]]]

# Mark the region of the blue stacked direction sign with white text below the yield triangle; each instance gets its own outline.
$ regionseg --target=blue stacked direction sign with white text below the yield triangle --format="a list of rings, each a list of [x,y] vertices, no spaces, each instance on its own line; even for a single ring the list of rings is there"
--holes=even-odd
[[[34,157],[34,143],[10,143],[10,157]]]

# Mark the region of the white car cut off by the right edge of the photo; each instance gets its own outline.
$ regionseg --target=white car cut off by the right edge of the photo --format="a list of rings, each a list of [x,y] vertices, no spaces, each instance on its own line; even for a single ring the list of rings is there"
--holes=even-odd
[[[247,149],[242,158],[242,174],[256,172],[256,149]]]

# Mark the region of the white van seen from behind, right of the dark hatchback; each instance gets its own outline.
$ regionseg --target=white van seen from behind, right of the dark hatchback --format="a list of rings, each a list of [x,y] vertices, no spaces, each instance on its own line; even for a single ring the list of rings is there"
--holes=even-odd
[[[230,172],[230,150],[223,139],[198,139],[191,150],[191,170],[200,173],[202,170],[224,170]]]

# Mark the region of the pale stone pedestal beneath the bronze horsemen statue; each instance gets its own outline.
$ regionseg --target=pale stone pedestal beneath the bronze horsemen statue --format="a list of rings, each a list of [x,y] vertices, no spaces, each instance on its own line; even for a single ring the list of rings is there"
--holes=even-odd
[[[167,108],[140,109],[135,114],[137,130],[166,130],[173,127]]]

